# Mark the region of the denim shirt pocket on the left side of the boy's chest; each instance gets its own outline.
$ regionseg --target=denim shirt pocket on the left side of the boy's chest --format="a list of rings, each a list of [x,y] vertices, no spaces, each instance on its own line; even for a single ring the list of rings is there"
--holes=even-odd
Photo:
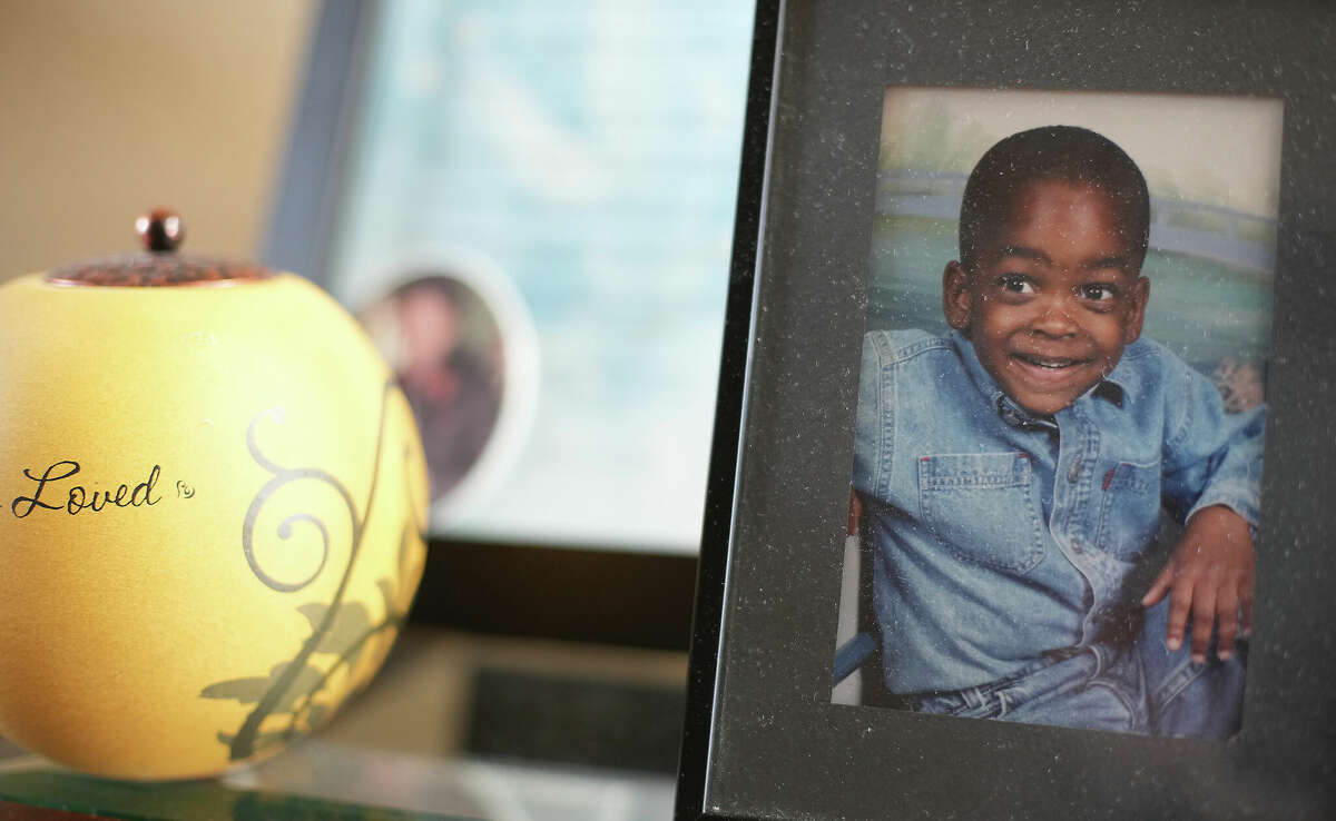
[[[919,509],[955,558],[1009,573],[1043,561],[1043,530],[1023,453],[945,454],[919,459]]]

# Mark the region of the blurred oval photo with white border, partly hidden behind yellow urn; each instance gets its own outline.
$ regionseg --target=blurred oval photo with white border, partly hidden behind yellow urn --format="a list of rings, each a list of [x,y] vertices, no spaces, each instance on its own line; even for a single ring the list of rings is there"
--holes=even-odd
[[[533,417],[537,344],[509,280],[490,266],[407,264],[359,312],[422,434],[432,527],[504,478]]]

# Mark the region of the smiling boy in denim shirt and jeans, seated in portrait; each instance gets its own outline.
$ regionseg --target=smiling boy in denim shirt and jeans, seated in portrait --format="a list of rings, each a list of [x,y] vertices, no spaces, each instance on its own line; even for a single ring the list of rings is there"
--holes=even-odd
[[[886,685],[908,709],[1237,729],[1264,411],[1226,415],[1140,339],[1149,210],[1104,136],[1006,138],[966,184],[950,336],[864,340],[854,505]],[[1162,510],[1185,527],[1146,586]]]

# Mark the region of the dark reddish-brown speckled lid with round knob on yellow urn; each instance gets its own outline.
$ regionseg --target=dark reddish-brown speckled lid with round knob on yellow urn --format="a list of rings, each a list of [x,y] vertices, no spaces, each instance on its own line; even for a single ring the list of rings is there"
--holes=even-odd
[[[269,279],[269,268],[236,259],[176,254],[186,238],[180,218],[156,208],[135,220],[144,250],[100,256],[55,268],[47,282],[61,286],[171,287]]]

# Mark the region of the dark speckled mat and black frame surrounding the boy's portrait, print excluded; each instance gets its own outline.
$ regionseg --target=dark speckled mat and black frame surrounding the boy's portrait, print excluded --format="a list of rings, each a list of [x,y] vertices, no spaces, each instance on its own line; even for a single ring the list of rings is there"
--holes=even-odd
[[[1336,816],[1336,8],[759,4],[677,818]],[[1228,742],[830,704],[888,85],[1284,103],[1256,629]]]

